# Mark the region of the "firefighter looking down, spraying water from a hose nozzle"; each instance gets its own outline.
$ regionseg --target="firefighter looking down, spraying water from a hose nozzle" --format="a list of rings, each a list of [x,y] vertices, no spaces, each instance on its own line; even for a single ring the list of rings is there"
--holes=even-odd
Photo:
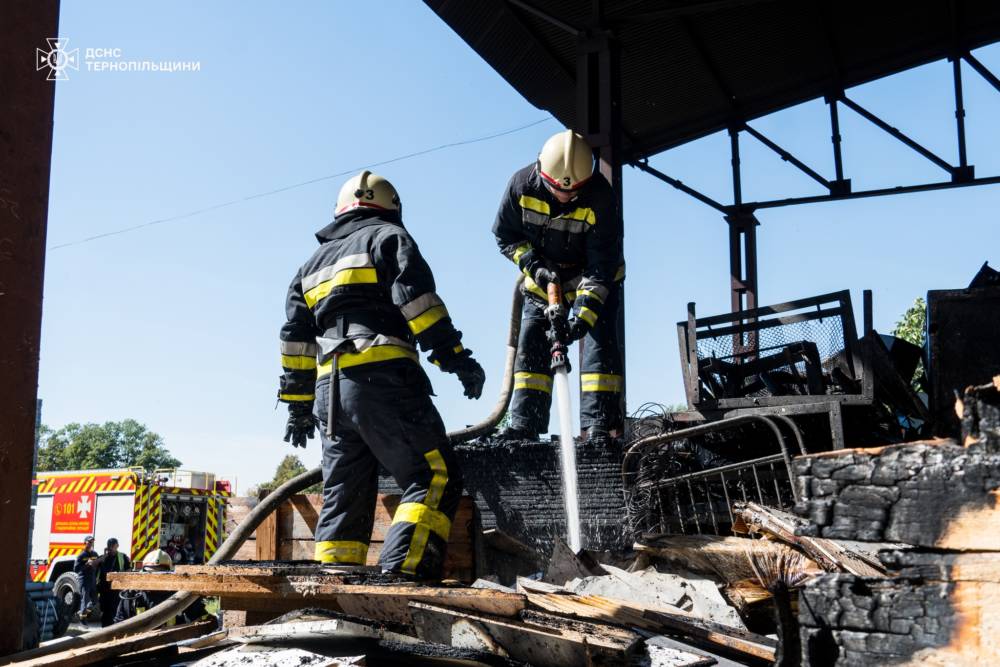
[[[621,431],[622,359],[618,310],[625,278],[622,225],[608,181],[594,171],[590,146],[571,130],[545,142],[538,160],[507,184],[493,234],[524,273],[521,335],[514,366],[507,440],[534,440],[549,424],[552,403],[546,288],[562,284],[571,309],[570,340],[583,345],[580,426],[607,445]]]

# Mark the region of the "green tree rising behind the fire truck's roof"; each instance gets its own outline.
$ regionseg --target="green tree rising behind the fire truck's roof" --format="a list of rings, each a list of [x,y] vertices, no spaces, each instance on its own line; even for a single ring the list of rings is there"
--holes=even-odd
[[[103,424],[67,424],[39,430],[38,470],[93,470],[140,466],[176,468],[163,437],[134,419]]]

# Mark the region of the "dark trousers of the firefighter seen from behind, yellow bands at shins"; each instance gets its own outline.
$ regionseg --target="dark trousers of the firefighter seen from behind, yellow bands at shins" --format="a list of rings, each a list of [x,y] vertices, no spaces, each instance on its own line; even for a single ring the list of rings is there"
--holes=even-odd
[[[334,371],[316,384],[315,414],[323,442],[316,560],[365,564],[382,464],[403,495],[379,565],[439,579],[462,477],[423,369],[396,360]]]

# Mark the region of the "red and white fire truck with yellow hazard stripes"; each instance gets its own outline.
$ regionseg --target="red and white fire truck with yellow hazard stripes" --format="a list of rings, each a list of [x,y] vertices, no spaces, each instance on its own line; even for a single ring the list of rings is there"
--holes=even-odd
[[[73,565],[87,535],[102,553],[109,538],[133,563],[155,549],[200,564],[215,553],[225,525],[229,483],[211,473],[142,468],[39,473],[29,572],[54,582],[70,609],[79,600]]]

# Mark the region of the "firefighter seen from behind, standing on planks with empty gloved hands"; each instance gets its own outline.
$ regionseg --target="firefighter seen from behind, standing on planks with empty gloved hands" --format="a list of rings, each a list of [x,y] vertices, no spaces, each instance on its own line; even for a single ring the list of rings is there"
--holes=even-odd
[[[379,565],[437,579],[462,481],[417,345],[469,398],[479,398],[485,374],[434,291],[389,181],[370,171],[348,180],[316,239],[288,290],[278,394],[286,441],[304,447],[320,426],[316,560],[365,564],[381,463],[403,496]]]

